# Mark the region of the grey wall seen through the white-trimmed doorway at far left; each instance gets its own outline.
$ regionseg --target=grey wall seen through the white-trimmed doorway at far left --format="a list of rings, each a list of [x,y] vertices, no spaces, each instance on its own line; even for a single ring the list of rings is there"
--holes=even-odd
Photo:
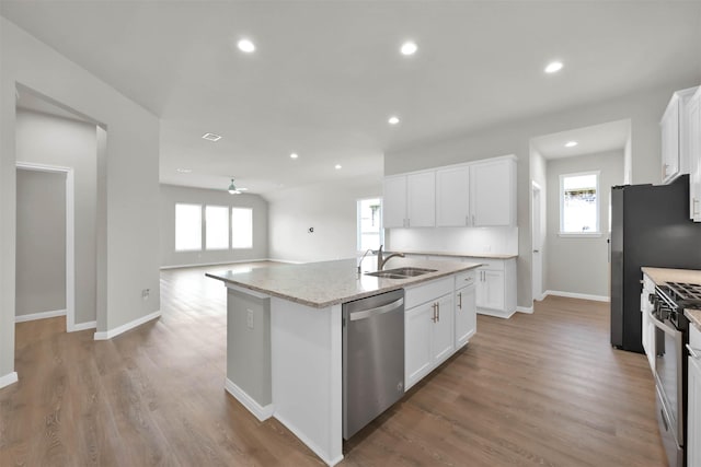
[[[66,310],[66,174],[18,171],[16,316]]]

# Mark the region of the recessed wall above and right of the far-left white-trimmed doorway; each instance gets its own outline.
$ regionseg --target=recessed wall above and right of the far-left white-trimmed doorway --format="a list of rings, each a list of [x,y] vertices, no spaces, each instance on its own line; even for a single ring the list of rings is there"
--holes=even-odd
[[[96,126],[18,109],[16,159],[73,168],[76,324],[96,320]]]

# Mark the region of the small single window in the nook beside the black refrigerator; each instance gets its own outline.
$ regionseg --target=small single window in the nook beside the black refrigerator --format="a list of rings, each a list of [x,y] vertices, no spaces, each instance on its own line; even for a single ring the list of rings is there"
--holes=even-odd
[[[560,175],[560,233],[599,234],[599,173]]]

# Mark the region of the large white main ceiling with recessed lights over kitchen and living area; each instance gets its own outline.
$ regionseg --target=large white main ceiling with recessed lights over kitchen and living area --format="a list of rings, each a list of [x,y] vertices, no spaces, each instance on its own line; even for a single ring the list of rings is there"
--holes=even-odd
[[[162,183],[234,176],[263,195],[379,179],[387,151],[701,75],[698,1],[2,0],[0,14],[160,117]],[[553,59],[563,70],[543,73]]]

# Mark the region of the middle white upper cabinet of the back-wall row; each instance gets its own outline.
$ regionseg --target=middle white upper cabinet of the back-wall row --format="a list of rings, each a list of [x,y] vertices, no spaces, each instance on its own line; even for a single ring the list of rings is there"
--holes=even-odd
[[[461,165],[436,171],[436,226],[469,226],[470,167]]]

